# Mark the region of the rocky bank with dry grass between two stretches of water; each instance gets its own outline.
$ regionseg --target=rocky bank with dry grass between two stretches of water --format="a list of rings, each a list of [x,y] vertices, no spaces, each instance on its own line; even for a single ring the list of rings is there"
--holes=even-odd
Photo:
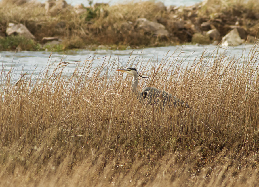
[[[71,6],[2,1],[1,51],[130,49],[180,44],[256,43],[259,3],[206,0],[192,6],[141,2]],[[8,11],[6,11],[8,10]],[[22,30],[22,32],[21,32]]]

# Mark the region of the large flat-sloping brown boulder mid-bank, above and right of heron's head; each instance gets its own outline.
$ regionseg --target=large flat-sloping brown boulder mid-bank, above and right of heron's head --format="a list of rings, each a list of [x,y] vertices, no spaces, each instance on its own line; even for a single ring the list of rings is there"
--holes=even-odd
[[[146,18],[138,18],[136,20],[137,28],[143,30],[145,33],[154,34],[157,37],[168,37],[169,32],[161,23],[152,22]]]

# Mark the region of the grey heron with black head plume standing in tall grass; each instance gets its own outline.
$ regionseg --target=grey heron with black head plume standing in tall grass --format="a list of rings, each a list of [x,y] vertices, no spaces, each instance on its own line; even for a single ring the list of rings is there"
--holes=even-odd
[[[121,71],[127,73],[133,77],[132,81],[132,90],[133,93],[137,96],[140,102],[146,101],[148,104],[161,104],[162,107],[166,105],[174,105],[175,107],[183,106],[189,108],[188,104],[183,100],[180,100],[173,96],[172,94],[162,91],[154,87],[146,87],[142,89],[142,92],[138,91],[138,77],[142,77],[138,74],[135,68],[126,68],[126,69],[116,69],[116,71]],[[147,77],[142,77],[147,78]]]

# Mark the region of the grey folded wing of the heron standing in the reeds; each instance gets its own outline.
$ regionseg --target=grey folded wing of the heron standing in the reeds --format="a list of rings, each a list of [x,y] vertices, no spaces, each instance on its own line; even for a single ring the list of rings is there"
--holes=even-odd
[[[172,94],[157,88],[146,87],[141,93],[142,100],[146,100],[148,104],[162,104],[162,106],[173,104],[175,107],[185,106],[188,108],[188,104],[183,100],[180,100],[175,96],[172,96]]]

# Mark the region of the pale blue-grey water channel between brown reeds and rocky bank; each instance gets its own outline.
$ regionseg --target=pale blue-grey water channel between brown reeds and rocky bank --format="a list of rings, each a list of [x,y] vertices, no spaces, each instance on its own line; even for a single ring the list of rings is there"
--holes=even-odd
[[[2,51],[0,52],[0,65],[4,73],[11,70],[15,81],[24,73],[27,75],[33,74],[37,77],[46,67],[54,69],[60,62],[70,62],[66,64],[67,66],[64,66],[63,70],[64,75],[70,76],[78,64],[90,63],[92,59],[94,59],[92,61],[93,68],[102,64],[104,61],[105,63],[115,64],[114,68],[126,68],[127,66],[136,67],[138,62],[142,65],[159,63],[162,59],[167,61],[167,63],[182,61],[181,66],[185,67],[195,59],[199,59],[203,51],[207,55],[206,59],[211,61],[214,58],[212,53],[215,54],[217,50],[219,50],[219,54],[224,54],[228,58],[240,58],[241,56],[248,56],[252,48],[253,45],[239,45],[228,48],[218,48],[214,45],[179,45],[134,50],[82,50],[52,54],[46,51],[21,51],[16,53]],[[87,61],[84,62],[85,60]],[[52,63],[52,66],[48,66]],[[258,60],[256,63],[259,63]]]

